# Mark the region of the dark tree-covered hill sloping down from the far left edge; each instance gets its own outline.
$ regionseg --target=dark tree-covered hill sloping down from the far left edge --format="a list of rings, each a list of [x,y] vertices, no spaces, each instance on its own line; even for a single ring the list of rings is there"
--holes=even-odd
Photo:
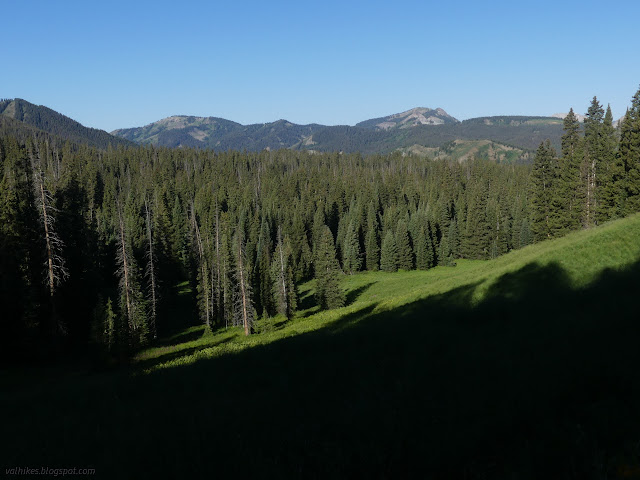
[[[110,135],[104,130],[88,128],[75,120],[42,105],[34,105],[20,98],[0,100],[0,117],[10,118],[30,128],[75,143],[97,148],[109,145],[133,145],[132,142]],[[5,128],[20,129],[20,124],[4,121]]]

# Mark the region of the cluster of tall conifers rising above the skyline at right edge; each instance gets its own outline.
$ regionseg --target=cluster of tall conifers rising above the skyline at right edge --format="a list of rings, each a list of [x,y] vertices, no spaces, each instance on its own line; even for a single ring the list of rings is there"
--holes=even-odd
[[[590,228],[640,210],[640,90],[613,126],[596,97],[584,125],[564,119],[561,156],[540,144],[532,173],[531,229],[536,240]]]

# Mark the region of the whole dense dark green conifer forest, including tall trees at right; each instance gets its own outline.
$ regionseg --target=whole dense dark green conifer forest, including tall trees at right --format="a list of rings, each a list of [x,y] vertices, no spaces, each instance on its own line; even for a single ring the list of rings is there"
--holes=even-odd
[[[455,267],[640,211],[640,91],[612,120],[594,97],[533,165],[103,148],[3,122],[2,352],[125,361],[179,328],[183,281],[207,328],[249,335],[291,317],[303,280],[335,308],[345,274]]]

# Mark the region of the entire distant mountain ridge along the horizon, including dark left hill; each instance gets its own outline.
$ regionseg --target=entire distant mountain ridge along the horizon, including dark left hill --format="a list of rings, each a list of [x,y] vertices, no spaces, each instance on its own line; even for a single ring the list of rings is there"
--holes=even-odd
[[[151,144],[168,148],[226,150],[293,149],[387,154],[394,151],[464,161],[528,162],[540,142],[559,150],[562,120],[553,117],[494,116],[458,121],[442,108],[417,107],[355,126],[298,125],[287,120],[242,125],[219,117],[176,115],[144,127],[109,134],[87,128],[48,107],[22,99],[0,100],[0,134],[21,132],[107,148]],[[38,133],[40,132],[40,133]]]

